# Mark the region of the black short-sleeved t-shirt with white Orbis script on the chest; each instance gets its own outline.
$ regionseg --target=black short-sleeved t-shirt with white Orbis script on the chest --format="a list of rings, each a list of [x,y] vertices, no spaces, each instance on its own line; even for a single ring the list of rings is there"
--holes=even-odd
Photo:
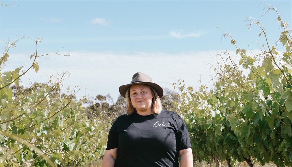
[[[162,110],[146,116],[136,112],[119,116],[107,141],[107,149],[117,147],[115,167],[178,167],[179,151],[192,146],[183,119]]]

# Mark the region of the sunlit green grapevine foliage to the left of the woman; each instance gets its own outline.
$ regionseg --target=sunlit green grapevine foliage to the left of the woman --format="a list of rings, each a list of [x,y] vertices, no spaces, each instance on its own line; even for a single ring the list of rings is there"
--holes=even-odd
[[[34,40],[36,46],[40,41]],[[16,44],[6,47],[1,65]],[[63,93],[66,73],[29,88],[20,85],[28,70],[38,71],[39,57],[36,47],[27,70],[19,67],[2,73],[0,69],[0,166],[82,166],[102,158],[107,131],[116,115],[89,119],[92,110],[84,105],[88,104],[86,97],[76,100],[69,90]]]

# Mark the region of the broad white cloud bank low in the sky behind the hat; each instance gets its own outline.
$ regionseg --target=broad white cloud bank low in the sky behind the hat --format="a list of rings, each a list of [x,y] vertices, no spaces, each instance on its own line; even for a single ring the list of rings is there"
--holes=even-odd
[[[39,72],[35,73],[34,70],[30,70],[26,75],[29,80],[24,76],[22,83],[29,86],[30,82],[47,82],[51,75],[58,76],[68,71],[70,76],[62,82],[64,89],[69,85],[73,85],[73,87],[79,85],[82,90],[78,92],[78,97],[87,94],[94,97],[97,94],[109,93],[116,100],[119,95],[119,86],[129,83],[135,72],[143,72],[151,76],[153,81],[162,87],[172,89],[173,86],[169,83],[182,79],[187,85],[198,88],[200,83],[207,84],[211,80],[210,75],[215,75],[216,72],[210,64],[216,66],[218,61],[222,61],[219,57],[214,56],[216,53],[217,51],[181,53],[72,51],[71,56],[39,57],[37,60],[40,67]],[[235,51],[232,53],[235,54]],[[22,54],[11,57],[13,60],[9,62],[13,62],[13,64],[7,64],[6,67],[12,69],[5,71],[22,65],[25,65],[23,68],[27,69],[32,60]],[[67,52],[60,54],[67,54]],[[18,62],[18,64],[14,62]],[[160,68],[162,62],[168,66]],[[141,68],[141,63],[142,66],[147,65],[147,68]],[[79,68],[76,68],[76,65]],[[106,72],[104,72],[105,69]],[[201,82],[198,82],[200,79]]]

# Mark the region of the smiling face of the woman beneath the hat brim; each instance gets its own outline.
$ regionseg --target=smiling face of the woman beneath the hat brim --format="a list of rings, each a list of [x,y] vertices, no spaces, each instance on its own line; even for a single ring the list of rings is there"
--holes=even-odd
[[[133,107],[139,115],[152,114],[152,95],[151,89],[145,84],[132,85],[130,97]]]

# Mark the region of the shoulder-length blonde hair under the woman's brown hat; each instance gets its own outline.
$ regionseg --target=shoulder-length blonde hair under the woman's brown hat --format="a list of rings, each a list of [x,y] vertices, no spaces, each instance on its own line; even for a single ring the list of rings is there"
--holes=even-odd
[[[143,83],[141,83],[141,84],[143,84]],[[147,85],[147,84],[145,84],[145,85],[150,88],[152,95],[154,96],[152,99],[152,106],[151,106],[152,107],[152,114],[159,114],[162,111],[162,105],[161,105],[159,95],[156,93],[155,89],[152,86]],[[135,108],[132,105],[131,97],[130,97],[130,93],[129,93],[130,88],[131,88],[131,86],[129,86],[128,90],[126,91],[126,95],[125,95],[126,99],[127,99],[125,112],[127,115],[132,115],[135,112]]]

